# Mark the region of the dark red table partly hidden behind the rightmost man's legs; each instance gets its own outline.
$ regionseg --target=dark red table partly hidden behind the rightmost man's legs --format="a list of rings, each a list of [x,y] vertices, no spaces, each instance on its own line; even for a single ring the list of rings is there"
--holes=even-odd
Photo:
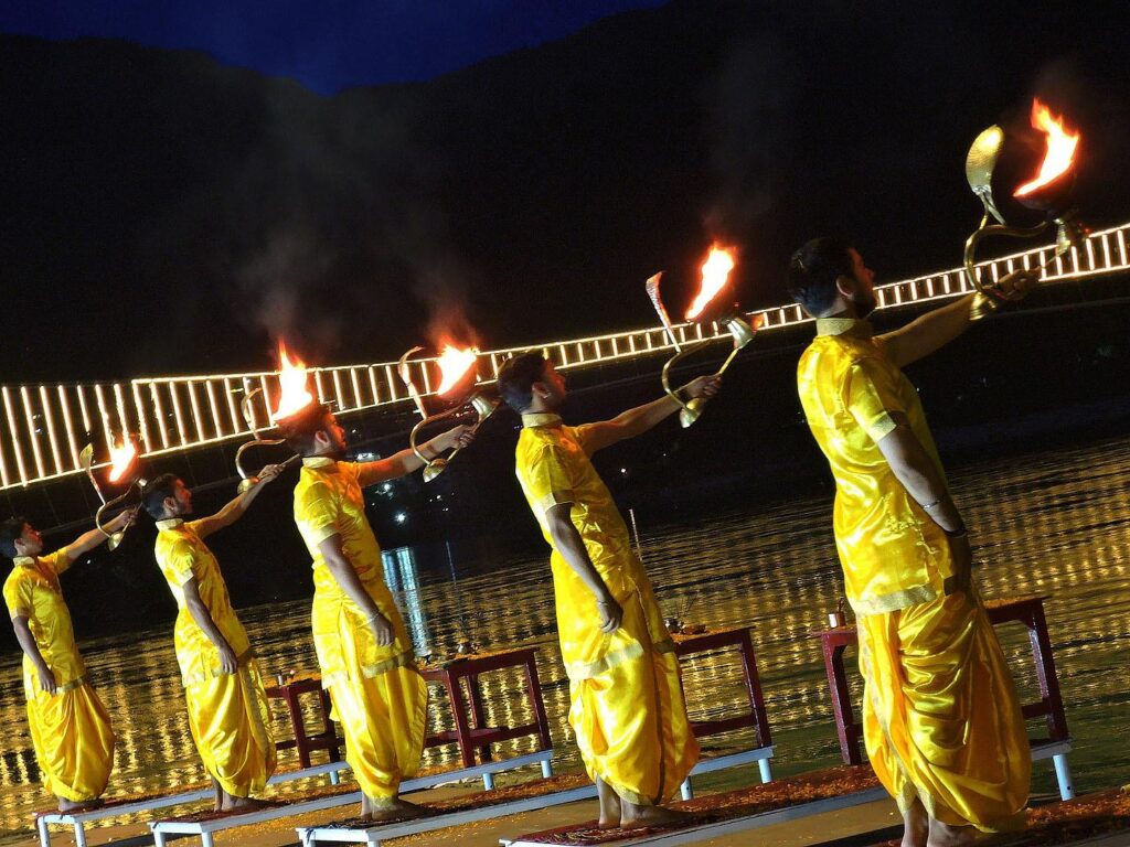
[[[1071,749],[1071,735],[1068,732],[1067,715],[1063,711],[1059,676],[1055,674],[1055,660],[1052,656],[1051,639],[1048,636],[1048,620],[1044,618],[1044,601],[1049,596],[1041,594],[990,600],[985,603],[985,612],[994,627],[1002,623],[1020,623],[1028,630],[1028,641],[1032,645],[1032,660],[1036,667],[1041,699],[1024,704],[1022,713],[1025,719],[1045,718],[1049,737],[1032,743],[1033,754],[1035,758],[1049,756],[1052,758],[1060,794],[1063,800],[1070,800],[1075,796],[1071,774],[1067,765],[1067,752]],[[812,638],[820,639],[820,647],[824,650],[824,669],[827,672],[828,689],[832,693],[832,711],[835,715],[836,733],[840,736],[840,752],[847,765],[862,765],[863,756],[860,752],[860,740],[863,735],[863,725],[855,719],[843,657],[847,647],[859,644],[855,627],[818,629],[810,635]]]

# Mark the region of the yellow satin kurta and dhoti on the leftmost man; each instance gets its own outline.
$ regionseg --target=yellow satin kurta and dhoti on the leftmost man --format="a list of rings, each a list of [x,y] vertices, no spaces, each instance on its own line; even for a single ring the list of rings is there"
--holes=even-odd
[[[44,787],[56,797],[82,802],[106,791],[114,763],[114,732],[98,695],[87,683],[59,585],[59,575],[70,564],[66,549],[38,558],[16,557],[3,599],[10,617],[27,618],[59,687],[54,695],[41,690],[35,666],[24,656],[27,722]]]

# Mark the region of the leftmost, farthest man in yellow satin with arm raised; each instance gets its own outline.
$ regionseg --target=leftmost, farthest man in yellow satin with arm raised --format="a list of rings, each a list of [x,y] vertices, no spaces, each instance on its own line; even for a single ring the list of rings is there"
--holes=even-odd
[[[124,529],[133,515],[123,512],[106,524],[107,532]],[[24,649],[32,746],[60,812],[98,805],[114,765],[110,715],[87,680],[59,584],[60,574],[105,540],[101,530],[92,530],[43,556],[43,536],[23,517],[0,524],[0,552],[14,562],[3,599]]]

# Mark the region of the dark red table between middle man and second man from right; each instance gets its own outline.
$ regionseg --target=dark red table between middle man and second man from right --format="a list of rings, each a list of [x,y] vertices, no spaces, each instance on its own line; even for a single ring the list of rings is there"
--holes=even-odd
[[[546,705],[541,699],[541,684],[538,681],[537,647],[498,650],[495,653],[478,653],[459,656],[442,665],[421,667],[424,679],[433,684],[443,686],[451,701],[451,714],[455,721],[454,730],[428,735],[425,746],[440,746],[455,742],[464,767],[473,767],[475,751],[485,763],[490,761],[490,744],[498,741],[510,741],[525,735],[537,735],[539,750],[553,749],[549,736],[549,718],[546,716]],[[521,726],[488,726],[486,710],[483,707],[483,691],[479,676],[484,673],[501,671],[506,667],[521,667],[525,671],[525,692],[533,709],[533,722]],[[467,697],[464,699],[463,688]],[[470,713],[468,713],[468,706]],[[541,774],[553,775],[549,759],[541,760]],[[483,775],[483,784],[489,791],[494,787],[492,774]]]

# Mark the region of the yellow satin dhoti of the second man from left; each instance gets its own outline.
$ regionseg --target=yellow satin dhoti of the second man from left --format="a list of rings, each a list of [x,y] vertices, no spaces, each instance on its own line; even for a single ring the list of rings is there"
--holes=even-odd
[[[275,772],[263,680],[253,658],[237,673],[185,686],[189,730],[208,774],[233,797],[250,797]]]

